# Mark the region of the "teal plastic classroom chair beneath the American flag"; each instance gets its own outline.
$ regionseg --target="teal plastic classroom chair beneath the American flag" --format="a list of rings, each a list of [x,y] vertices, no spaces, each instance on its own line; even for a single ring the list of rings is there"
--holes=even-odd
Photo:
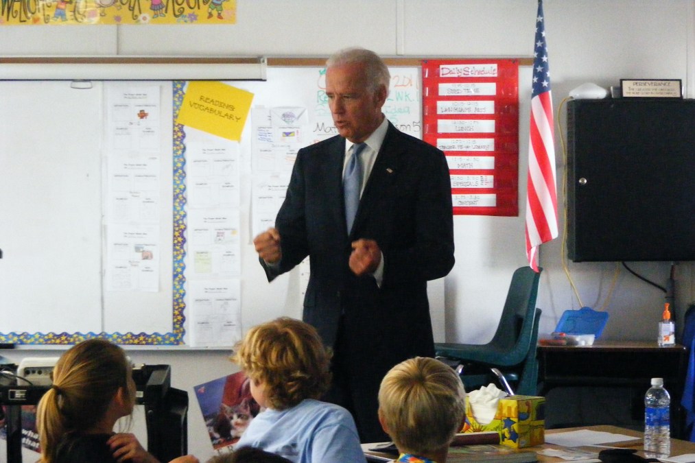
[[[435,343],[436,357],[457,368],[466,391],[500,382],[509,393],[537,395],[541,309],[536,308],[536,299],[541,270],[521,267],[514,271],[502,317],[489,343]]]

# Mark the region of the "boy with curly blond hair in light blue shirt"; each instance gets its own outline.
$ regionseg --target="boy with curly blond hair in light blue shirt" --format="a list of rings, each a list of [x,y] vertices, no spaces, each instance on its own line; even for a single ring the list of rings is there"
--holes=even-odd
[[[232,358],[265,408],[236,448],[252,446],[293,462],[366,461],[350,412],[318,400],[329,387],[330,355],[311,325],[277,318],[253,327]]]

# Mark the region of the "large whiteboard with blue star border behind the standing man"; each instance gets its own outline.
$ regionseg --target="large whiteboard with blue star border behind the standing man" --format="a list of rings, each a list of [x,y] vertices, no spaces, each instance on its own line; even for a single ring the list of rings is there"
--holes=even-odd
[[[384,113],[419,137],[419,68],[391,70]],[[252,108],[306,108],[311,128],[306,145],[335,134],[332,124],[322,122],[330,120],[322,67],[269,67],[267,79],[227,83],[252,92]],[[156,86],[161,99],[165,149],[156,292],[109,291],[105,281],[104,152],[111,142],[104,136],[104,95],[119,86]],[[186,270],[177,278],[179,266],[173,264],[179,257],[172,111],[172,81],[92,81],[79,89],[70,81],[0,81],[0,342],[65,344],[95,335],[122,344],[188,342]],[[270,285],[253,252],[253,136],[249,118],[238,142],[244,254],[239,333],[280,315],[300,316],[303,299],[299,269]],[[443,312],[443,300],[434,305]]]

